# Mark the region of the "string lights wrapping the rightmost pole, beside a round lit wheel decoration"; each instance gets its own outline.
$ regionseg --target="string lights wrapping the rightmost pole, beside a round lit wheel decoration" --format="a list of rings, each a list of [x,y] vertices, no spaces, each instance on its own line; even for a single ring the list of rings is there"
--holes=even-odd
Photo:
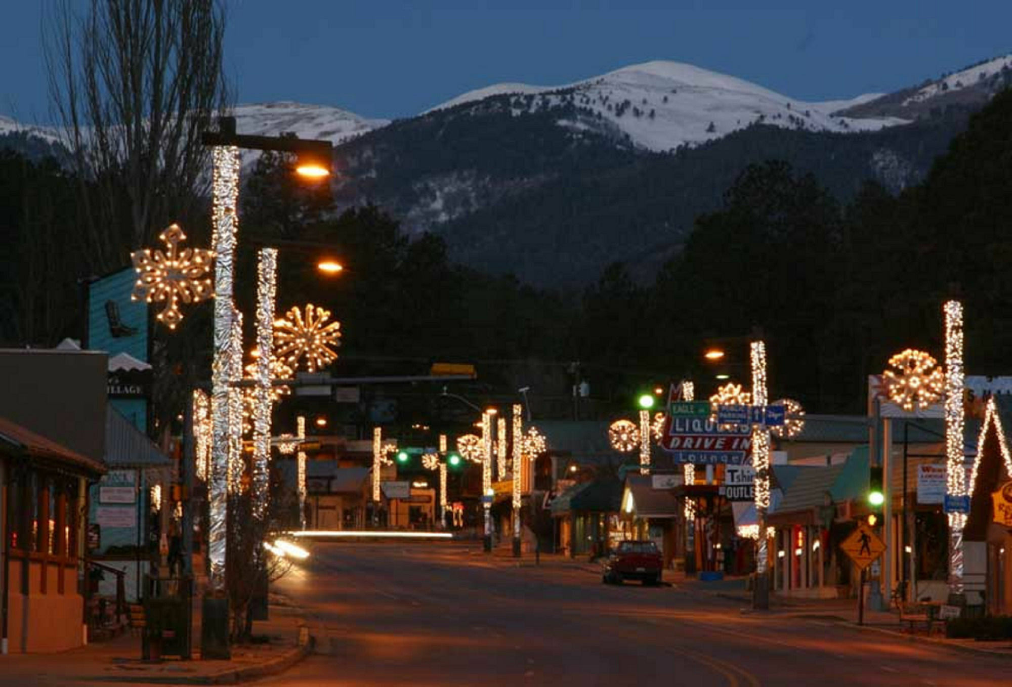
[[[951,496],[965,496],[962,304],[947,300],[942,312],[945,316],[945,491]],[[949,587],[955,594],[962,593],[962,528],[965,524],[964,513],[948,514]]]

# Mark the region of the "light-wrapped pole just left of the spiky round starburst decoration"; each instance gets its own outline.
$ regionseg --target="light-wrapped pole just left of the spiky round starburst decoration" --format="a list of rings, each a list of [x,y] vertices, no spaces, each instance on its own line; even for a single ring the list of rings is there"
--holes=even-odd
[[[254,388],[253,412],[253,464],[252,464],[252,510],[256,520],[263,520],[267,512],[270,487],[270,434],[273,390],[271,372],[274,357],[274,295],[277,290],[277,250],[261,248],[257,261],[256,294],[256,345],[263,354],[256,359],[256,387]]]

